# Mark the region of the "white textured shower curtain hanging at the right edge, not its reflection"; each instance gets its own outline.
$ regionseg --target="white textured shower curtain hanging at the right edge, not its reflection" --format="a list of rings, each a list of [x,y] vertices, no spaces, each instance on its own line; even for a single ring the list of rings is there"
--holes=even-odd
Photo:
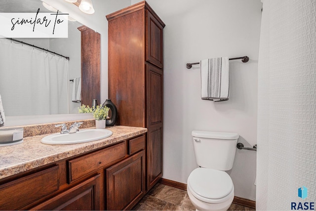
[[[256,206],[291,210],[316,202],[316,1],[262,2]]]

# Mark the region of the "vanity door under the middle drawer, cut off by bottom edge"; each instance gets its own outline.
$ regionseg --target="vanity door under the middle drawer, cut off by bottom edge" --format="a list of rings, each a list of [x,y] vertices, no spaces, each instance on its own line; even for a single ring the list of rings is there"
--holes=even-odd
[[[100,174],[98,174],[32,210],[100,210],[100,182]]]

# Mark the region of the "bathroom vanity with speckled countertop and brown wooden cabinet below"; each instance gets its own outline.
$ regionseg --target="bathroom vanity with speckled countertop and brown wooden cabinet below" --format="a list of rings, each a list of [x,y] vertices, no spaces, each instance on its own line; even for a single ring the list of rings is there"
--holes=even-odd
[[[1,210],[130,210],[146,191],[146,128],[107,127],[98,141],[0,148]]]

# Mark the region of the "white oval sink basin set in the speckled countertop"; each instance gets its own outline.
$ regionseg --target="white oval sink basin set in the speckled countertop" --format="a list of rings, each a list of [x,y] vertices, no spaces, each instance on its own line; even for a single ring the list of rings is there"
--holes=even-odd
[[[96,141],[111,136],[113,132],[108,129],[82,129],[75,133],[54,133],[41,139],[43,144],[79,144]]]

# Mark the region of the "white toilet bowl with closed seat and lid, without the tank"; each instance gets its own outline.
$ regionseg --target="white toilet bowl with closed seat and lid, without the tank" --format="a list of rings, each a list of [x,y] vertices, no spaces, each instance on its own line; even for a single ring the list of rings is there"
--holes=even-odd
[[[225,172],[194,169],[187,182],[190,201],[197,210],[228,210],[234,200],[234,184]]]

